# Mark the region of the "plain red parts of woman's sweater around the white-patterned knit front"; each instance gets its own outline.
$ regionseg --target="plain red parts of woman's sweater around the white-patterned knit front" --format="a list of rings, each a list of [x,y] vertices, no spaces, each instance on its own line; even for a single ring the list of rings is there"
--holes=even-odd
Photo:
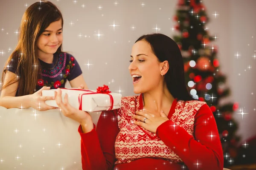
[[[141,96],[137,97],[139,110],[143,109]],[[122,107],[126,107],[123,103]],[[132,161],[128,161],[129,163],[118,163],[115,143],[120,133],[120,112],[113,110],[102,112],[97,129],[94,125],[93,130],[82,133],[81,126],[79,127],[83,170],[180,170],[185,167],[189,170],[222,170],[221,142],[215,118],[209,106],[204,104],[196,111],[195,117],[193,117],[192,136],[188,130],[185,130],[185,127],[176,126],[174,128],[172,126],[174,122],[177,125],[176,121],[172,119],[175,111],[177,112],[177,103],[177,99],[175,99],[168,114],[170,120],[160,125],[155,135],[171,148],[182,162],[160,157],[143,157],[131,159]]]

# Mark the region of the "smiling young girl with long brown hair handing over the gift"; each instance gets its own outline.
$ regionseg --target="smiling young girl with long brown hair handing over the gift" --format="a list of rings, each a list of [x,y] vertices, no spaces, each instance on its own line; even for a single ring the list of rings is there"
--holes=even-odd
[[[51,2],[27,8],[17,46],[3,70],[0,106],[45,111],[54,109],[44,103],[54,98],[42,96],[42,90],[64,88],[67,80],[74,88],[87,88],[76,59],[61,50],[62,29],[61,11]]]

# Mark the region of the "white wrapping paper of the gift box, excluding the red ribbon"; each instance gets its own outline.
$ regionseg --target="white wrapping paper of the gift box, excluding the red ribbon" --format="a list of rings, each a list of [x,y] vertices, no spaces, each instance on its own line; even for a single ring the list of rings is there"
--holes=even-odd
[[[83,89],[71,90],[71,89],[78,89],[78,88],[68,88],[68,89],[61,89],[61,96],[62,101],[64,101],[64,96],[67,93],[68,95],[68,102],[71,106],[76,109],[79,109],[79,94],[84,93],[91,93],[83,91]],[[54,91],[57,89],[51,90],[44,90],[42,91],[42,96],[54,96]],[[92,90],[90,90],[92,91]],[[96,91],[93,91],[96,92]],[[117,93],[110,93],[113,96],[113,108],[118,109],[121,108],[121,99],[122,95]],[[45,103],[52,107],[58,107],[55,100],[47,100]],[[111,99],[108,94],[87,94],[82,96],[82,110],[87,112],[96,112],[96,111],[107,111],[111,106]]]

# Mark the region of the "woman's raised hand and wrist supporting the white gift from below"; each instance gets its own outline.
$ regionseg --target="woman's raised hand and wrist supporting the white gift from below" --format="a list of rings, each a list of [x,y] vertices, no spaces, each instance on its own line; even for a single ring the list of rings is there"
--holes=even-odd
[[[90,132],[93,130],[93,120],[88,112],[80,111],[78,109],[73,108],[67,99],[67,94],[64,96],[64,101],[61,98],[61,89],[58,88],[57,92],[54,92],[55,100],[58,107],[61,109],[61,112],[64,116],[69,117],[70,119],[79,122],[82,126],[82,130],[84,133]]]

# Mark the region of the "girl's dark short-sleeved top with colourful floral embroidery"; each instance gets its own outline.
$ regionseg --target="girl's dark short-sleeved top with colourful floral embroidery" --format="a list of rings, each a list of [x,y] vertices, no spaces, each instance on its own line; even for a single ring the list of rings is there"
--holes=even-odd
[[[68,53],[54,54],[52,63],[47,63],[39,59],[42,68],[42,78],[38,79],[36,91],[43,86],[51,89],[64,88],[65,83],[71,81],[82,74],[81,68],[76,59]],[[17,63],[9,63],[8,71],[16,72]],[[17,91],[18,92],[18,91]],[[17,96],[17,93],[16,93]]]

